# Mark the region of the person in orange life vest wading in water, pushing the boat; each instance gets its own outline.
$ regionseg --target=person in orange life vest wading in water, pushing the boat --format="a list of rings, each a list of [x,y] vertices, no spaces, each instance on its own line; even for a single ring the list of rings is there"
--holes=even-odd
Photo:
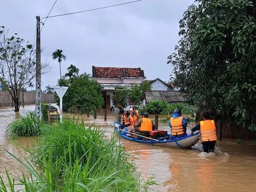
[[[201,133],[202,145],[204,152],[210,153],[214,151],[215,143],[217,141],[215,122],[210,120],[210,114],[208,112],[203,113],[203,121],[200,121],[192,130],[191,134],[195,131]]]

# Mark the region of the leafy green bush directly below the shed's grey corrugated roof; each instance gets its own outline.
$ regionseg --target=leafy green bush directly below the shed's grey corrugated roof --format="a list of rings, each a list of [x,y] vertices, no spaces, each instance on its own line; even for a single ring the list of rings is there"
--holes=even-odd
[[[169,106],[167,101],[151,101],[146,105],[145,111],[149,114],[159,115]]]

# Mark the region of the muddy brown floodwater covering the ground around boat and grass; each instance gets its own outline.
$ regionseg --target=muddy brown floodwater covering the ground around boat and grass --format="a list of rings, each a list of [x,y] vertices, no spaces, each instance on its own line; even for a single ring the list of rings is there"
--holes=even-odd
[[[34,106],[21,108],[21,113],[34,110]],[[4,175],[5,168],[14,175],[21,173],[22,166],[15,161],[4,149],[18,158],[27,154],[11,140],[5,139],[3,133],[7,123],[19,114],[11,108],[0,109],[0,174]],[[100,125],[107,138],[113,134],[115,115],[108,116],[107,122],[102,116],[93,119],[83,116],[86,125]],[[167,129],[167,127],[166,127]],[[116,135],[118,140],[118,135]],[[35,138],[18,139],[22,146],[31,148]],[[123,146],[134,157],[135,164],[145,179],[154,176],[157,186],[154,191],[256,191],[256,150],[254,146],[243,146],[237,143],[218,141],[215,154],[205,154],[201,143],[192,149],[169,149],[121,139]]]

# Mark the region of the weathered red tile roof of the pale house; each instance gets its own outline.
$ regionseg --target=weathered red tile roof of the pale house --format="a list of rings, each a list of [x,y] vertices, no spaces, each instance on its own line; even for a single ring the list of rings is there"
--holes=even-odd
[[[95,67],[92,66],[92,77],[145,77],[140,68]]]

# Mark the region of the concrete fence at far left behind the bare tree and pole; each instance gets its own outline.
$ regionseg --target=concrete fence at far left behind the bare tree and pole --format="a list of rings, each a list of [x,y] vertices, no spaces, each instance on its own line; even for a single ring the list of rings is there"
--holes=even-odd
[[[42,102],[53,103],[54,94],[42,93]],[[36,102],[36,93],[35,92],[24,92],[24,105],[32,105]],[[20,102],[22,106],[22,92],[20,93]],[[13,101],[9,92],[0,91],[0,107],[12,106]]]

